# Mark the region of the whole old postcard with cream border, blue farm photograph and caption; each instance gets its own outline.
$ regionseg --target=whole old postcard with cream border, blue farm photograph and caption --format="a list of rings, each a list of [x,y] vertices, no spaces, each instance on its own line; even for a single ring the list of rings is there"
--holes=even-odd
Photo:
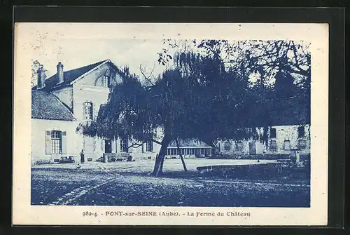
[[[326,24],[20,22],[13,100],[13,224],[327,224]]]

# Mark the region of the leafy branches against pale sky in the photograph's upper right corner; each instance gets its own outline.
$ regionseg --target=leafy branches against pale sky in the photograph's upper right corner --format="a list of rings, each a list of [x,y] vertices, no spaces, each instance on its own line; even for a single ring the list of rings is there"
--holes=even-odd
[[[158,53],[161,64],[169,62],[172,51],[195,51],[201,55],[220,56],[225,66],[249,77],[259,74],[271,86],[277,72],[290,74],[295,83],[307,85],[311,76],[309,43],[288,40],[164,40],[165,50]]]

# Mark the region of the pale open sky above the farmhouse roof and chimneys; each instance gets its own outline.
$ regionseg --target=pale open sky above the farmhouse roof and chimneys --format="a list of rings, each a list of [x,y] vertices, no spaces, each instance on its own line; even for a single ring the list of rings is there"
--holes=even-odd
[[[106,59],[110,59],[118,67],[127,65],[132,73],[140,76],[140,65],[148,73],[154,67],[153,75],[156,76],[165,69],[157,62],[162,46],[161,41],[155,40],[63,39],[38,48],[32,59],[41,62],[50,76],[55,74],[58,62],[62,62],[66,71]]]

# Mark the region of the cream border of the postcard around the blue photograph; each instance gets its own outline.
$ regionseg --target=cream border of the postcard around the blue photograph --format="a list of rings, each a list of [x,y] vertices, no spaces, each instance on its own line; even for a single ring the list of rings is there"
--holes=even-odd
[[[66,37],[113,39],[290,39],[311,42],[311,207],[185,208],[112,206],[31,206],[31,86],[28,41],[50,27]],[[86,32],[89,32],[87,34]],[[255,23],[16,23],[13,121],[13,224],[123,225],[325,225],[328,211],[328,25]],[[29,71],[23,69],[29,68]],[[296,195],[297,196],[297,195]],[[85,210],[237,210],[250,217],[83,217]]]

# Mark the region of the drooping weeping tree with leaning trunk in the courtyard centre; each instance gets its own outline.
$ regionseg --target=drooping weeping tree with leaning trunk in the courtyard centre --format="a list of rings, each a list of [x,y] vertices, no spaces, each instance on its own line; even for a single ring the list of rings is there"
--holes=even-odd
[[[179,72],[167,71],[152,86],[146,86],[125,68],[122,80],[99,109],[97,120],[83,123],[77,130],[90,136],[131,137],[134,147],[146,141],[158,143],[161,147],[153,171],[158,176],[169,142],[176,138],[176,123],[183,116]],[[162,129],[162,135],[154,132],[157,128]]]

